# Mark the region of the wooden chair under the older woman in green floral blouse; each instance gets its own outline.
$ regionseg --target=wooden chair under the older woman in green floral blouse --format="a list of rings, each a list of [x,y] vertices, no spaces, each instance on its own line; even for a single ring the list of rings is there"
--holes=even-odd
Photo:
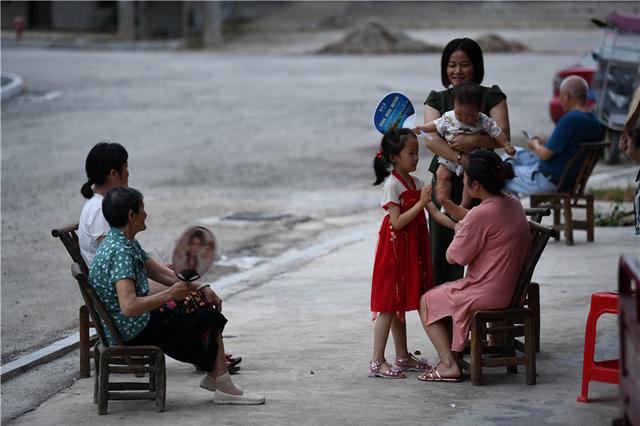
[[[95,346],[96,374],[93,388],[93,402],[98,404],[98,414],[107,413],[110,399],[155,400],[157,410],[164,411],[166,399],[164,352],[156,346],[125,346],[118,329],[95,290],[89,285],[80,265],[73,264],[71,274],[78,281],[85,306],[89,310],[100,338]],[[116,345],[108,344],[103,328],[105,326],[115,339]],[[149,373],[149,381],[110,382],[111,373],[136,375]]]

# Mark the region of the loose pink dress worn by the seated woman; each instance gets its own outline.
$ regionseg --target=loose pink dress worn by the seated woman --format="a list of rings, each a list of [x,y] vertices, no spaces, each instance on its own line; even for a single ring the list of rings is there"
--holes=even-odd
[[[511,194],[484,200],[460,222],[447,254],[457,264],[468,265],[467,275],[424,295],[427,324],[453,318],[451,350],[464,349],[474,311],[509,306],[530,238],[520,200]]]

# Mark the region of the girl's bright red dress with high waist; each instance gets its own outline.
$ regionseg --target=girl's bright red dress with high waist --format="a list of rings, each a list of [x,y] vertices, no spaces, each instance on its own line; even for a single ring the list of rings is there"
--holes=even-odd
[[[400,212],[411,209],[420,200],[420,189],[413,178],[406,182],[393,172],[404,192],[399,195]],[[388,179],[392,179],[390,176]],[[385,210],[389,203],[384,205]],[[395,312],[404,320],[404,313],[417,310],[420,296],[433,287],[431,248],[425,214],[418,214],[401,230],[391,226],[387,214],[378,232],[378,245],[371,284],[371,312]]]

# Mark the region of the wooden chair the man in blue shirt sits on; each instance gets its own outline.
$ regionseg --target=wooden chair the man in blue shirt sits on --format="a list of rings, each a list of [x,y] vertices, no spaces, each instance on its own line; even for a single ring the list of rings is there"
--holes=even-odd
[[[564,230],[567,245],[573,245],[573,230],[587,231],[587,241],[593,241],[595,222],[593,195],[585,194],[587,181],[593,168],[600,158],[602,151],[609,146],[609,142],[583,143],[578,152],[569,160],[558,182],[557,192],[539,192],[531,194],[531,207],[548,207],[553,210],[553,228]],[[572,176],[575,174],[575,179]],[[585,220],[575,220],[572,209],[586,209]],[[561,222],[560,214],[564,220]],[[555,239],[560,234],[554,235]]]

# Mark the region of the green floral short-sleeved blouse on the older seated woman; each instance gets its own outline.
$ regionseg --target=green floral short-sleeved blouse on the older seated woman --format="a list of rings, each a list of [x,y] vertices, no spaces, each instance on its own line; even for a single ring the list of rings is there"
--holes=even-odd
[[[147,326],[150,314],[125,316],[120,310],[116,282],[130,278],[135,282],[136,295],[146,296],[149,293],[149,282],[144,263],[148,258],[149,255],[142,250],[138,241],[130,240],[119,229],[111,228],[100,243],[89,268],[89,282],[125,342],[133,339]],[[104,322],[103,328],[108,343],[115,345],[116,341]]]

